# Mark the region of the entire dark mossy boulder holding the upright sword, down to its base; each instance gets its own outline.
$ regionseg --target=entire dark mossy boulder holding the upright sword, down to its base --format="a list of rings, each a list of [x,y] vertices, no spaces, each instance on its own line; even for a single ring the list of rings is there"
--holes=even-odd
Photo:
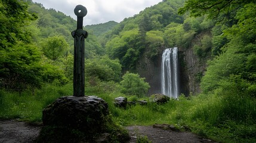
[[[113,123],[107,102],[96,96],[61,97],[43,110],[38,142],[124,142],[128,132]],[[102,139],[100,139],[101,141]]]

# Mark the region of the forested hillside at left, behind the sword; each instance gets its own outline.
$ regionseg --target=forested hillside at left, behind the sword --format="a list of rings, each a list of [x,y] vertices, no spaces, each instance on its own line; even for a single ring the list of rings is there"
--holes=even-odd
[[[1,1],[0,7],[1,86],[22,91],[40,88],[45,82],[67,83],[73,76],[70,33],[76,29],[76,21],[32,1]],[[105,30],[109,29],[111,26]],[[104,54],[92,33],[85,44],[86,58]]]

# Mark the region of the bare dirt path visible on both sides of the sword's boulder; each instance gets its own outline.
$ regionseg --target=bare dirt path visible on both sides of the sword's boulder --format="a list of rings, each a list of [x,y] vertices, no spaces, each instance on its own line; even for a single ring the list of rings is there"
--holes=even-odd
[[[39,135],[40,125],[31,125],[18,120],[0,120],[0,142],[2,143],[27,143],[35,141]],[[175,132],[153,128],[152,126],[128,126],[126,127],[131,135],[130,143],[136,142],[138,135],[144,135],[152,143],[161,142],[213,142],[209,139],[202,139],[190,132]]]

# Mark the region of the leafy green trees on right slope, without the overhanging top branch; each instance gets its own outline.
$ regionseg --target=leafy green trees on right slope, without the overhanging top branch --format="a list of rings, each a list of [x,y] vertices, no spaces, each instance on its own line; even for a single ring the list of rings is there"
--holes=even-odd
[[[255,4],[246,3],[247,1],[244,1],[243,6],[235,13],[233,18],[237,23],[233,23],[232,27],[220,25],[212,30],[214,46],[212,52],[214,55],[222,53],[209,61],[209,67],[201,83],[204,92],[218,89],[222,80],[228,80],[233,75],[248,80],[248,83],[255,83],[255,71],[252,70],[254,64],[251,63],[255,55],[256,31],[251,27],[255,24],[255,21],[253,22],[255,11],[252,10]]]

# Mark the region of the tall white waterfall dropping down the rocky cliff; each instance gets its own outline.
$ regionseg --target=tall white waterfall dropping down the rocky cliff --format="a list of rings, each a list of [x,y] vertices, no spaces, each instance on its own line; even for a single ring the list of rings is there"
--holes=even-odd
[[[170,98],[178,98],[178,48],[165,49],[162,55],[161,91]]]

